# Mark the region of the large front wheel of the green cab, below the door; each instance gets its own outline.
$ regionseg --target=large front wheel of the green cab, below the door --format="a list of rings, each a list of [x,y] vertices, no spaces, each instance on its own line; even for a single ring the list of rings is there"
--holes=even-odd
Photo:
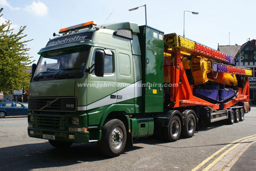
[[[108,157],[119,156],[126,144],[126,129],[121,120],[109,120],[102,127],[101,140],[98,146],[103,155]]]

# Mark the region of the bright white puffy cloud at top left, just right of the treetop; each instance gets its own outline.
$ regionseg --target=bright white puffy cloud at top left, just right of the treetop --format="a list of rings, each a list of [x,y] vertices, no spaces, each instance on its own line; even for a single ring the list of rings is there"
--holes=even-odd
[[[40,1],[38,1],[38,3],[33,1],[32,4],[27,5],[25,7],[25,10],[29,11],[29,12],[32,12],[32,13],[34,13],[37,16],[44,16],[44,15],[47,14],[48,7],[44,3],[40,2]]]

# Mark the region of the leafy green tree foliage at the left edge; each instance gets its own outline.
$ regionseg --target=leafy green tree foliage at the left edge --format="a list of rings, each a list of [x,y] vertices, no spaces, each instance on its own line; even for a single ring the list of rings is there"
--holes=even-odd
[[[26,72],[33,61],[28,55],[26,43],[22,40],[26,26],[20,27],[17,34],[10,28],[11,22],[6,21],[0,26],[0,91],[10,93],[13,89],[28,88],[30,74]]]

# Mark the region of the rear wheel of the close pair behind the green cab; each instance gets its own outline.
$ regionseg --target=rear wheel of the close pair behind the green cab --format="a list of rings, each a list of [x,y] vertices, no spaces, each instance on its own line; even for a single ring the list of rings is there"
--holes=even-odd
[[[186,138],[190,138],[194,135],[196,131],[196,119],[195,116],[190,113],[186,119],[184,126],[184,136]]]

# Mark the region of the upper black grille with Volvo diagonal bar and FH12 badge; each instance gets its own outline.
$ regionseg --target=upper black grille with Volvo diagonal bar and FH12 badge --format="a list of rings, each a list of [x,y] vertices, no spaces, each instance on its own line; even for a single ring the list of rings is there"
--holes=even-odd
[[[76,111],[75,97],[40,97],[28,99],[28,110],[31,111]]]

